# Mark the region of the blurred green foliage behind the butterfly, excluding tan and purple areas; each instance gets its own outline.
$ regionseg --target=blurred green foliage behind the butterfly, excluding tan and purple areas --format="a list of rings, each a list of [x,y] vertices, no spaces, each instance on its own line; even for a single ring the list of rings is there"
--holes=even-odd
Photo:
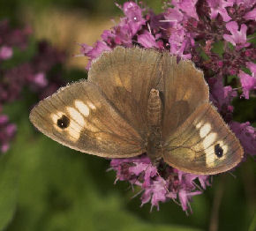
[[[122,4],[122,1],[120,4]],[[156,11],[161,4],[146,1]],[[89,14],[117,14],[112,1],[100,0],[13,0],[0,3],[0,19],[8,17],[19,25],[19,10],[29,4],[34,11],[55,7],[82,9]],[[35,41],[17,60],[29,59]],[[86,41],[85,41],[86,42]],[[14,63],[10,63],[14,64]],[[86,72],[64,70],[64,78],[85,78]],[[1,78],[1,76],[0,76]],[[174,202],[150,211],[140,207],[139,197],[127,183],[114,185],[115,173],[106,172],[109,160],[86,155],[59,145],[34,130],[29,110],[37,101],[26,90],[20,101],[4,107],[18,133],[11,149],[0,157],[0,230],[207,230],[219,223],[219,230],[255,230],[255,164],[252,159],[234,172],[213,178],[212,187],[194,197],[187,216]],[[255,98],[237,99],[236,120],[255,124]],[[216,205],[217,210],[214,211]]]

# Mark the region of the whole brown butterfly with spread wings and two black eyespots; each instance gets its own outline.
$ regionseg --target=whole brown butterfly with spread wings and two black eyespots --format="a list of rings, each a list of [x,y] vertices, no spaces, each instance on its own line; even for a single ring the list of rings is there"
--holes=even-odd
[[[214,175],[237,166],[243,148],[209,101],[191,61],[145,48],[117,47],[83,79],[40,101],[30,114],[49,138],[82,153],[131,158]]]

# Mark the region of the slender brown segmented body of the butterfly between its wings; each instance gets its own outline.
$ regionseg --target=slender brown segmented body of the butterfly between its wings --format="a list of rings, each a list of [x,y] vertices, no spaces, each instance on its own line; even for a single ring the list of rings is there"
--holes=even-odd
[[[147,156],[152,164],[157,166],[162,159],[162,101],[159,91],[155,89],[151,89],[147,101],[147,121],[150,128],[147,137]]]

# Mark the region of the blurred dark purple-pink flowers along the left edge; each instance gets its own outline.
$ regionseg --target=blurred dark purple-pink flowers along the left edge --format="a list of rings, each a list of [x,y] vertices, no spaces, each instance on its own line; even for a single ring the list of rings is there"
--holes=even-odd
[[[7,20],[0,21],[0,153],[9,149],[9,143],[16,132],[15,124],[10,123],[8,116],[3,114],[3,106],[18,100],[25,87],[42,99],[60,86],[61,78],[56,78],[57,74],[51,79],[46,76],[57,63],[63,63],[64,54],[47,42],[38,42],[37,52],[30,60],[10,65],[15,57],[15,49],[26,52],[30,34],[29,28],[13,29]]]

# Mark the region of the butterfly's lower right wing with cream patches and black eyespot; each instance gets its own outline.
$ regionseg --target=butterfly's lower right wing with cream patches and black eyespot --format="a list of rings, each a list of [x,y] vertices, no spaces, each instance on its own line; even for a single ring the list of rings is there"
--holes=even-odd
[[[239,141],[209,102],[196,108],[164,144],[163,159],[194,174],[228,171],[242,158]]]

